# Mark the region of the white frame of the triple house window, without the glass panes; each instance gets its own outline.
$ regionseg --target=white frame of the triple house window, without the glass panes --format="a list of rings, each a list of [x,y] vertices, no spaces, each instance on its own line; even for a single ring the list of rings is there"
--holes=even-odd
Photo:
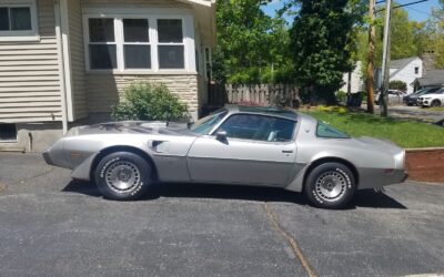
[[[113,18],[114,38],[117,42],[118,68],[114,70],[91,69],[89,53],[89,19],[91,18]],[[123,40],[123,19],[148,19],[149,21],[149,44],[151,49],[151,69],[125,69],[124,66],[124,44]],[[158,20],[159,19],[180,19],[182,20],[182,43],[159,43]],[[83,9],[83,35],[84,35],[84,57],[85,70],[88,73],[112,73],[112,74],[198,74],[195,68],[195,45],[194,45],[194,23],[192,12],[186,9],[163,9],[163,8],[85,8]],[[158,45],[183,45],[184,47],[184,68],[183,69],[159,69]]]

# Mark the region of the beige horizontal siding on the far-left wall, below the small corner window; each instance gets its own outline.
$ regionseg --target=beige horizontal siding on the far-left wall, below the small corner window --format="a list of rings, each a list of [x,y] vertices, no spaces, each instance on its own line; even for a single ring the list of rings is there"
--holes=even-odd
[[[39,0],[40,42],[0,42],[0,122],[61,120],[54,7]]]

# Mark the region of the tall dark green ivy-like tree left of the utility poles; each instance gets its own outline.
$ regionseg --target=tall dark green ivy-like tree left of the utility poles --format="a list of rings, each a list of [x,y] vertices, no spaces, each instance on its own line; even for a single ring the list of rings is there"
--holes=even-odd
[[[359,20],[347,0],[299,0],[301,9],[291,30],[295,81],[303,100],[336,102],[334,92],[344,72],[353,69],[354,25]]]

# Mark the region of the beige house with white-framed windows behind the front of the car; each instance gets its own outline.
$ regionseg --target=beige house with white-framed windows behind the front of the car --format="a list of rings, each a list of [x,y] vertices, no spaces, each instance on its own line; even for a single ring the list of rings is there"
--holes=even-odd
[[[214,44],[215,0],[0,0],[0,150],[107,119],[133,80],[164,83],[196,119]]]

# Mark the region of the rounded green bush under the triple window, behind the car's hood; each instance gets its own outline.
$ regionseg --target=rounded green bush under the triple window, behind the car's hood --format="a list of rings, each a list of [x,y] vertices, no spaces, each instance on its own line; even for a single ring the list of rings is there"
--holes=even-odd
[[[163,84],[134,82],[123,91],[120,103],[112,106],[117,121],[179,121],[188,115],[186,105]]]

